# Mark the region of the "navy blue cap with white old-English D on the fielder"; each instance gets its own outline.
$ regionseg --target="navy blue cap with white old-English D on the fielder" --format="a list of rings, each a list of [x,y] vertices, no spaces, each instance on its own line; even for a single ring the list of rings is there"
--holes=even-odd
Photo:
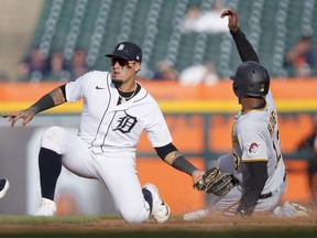
[[[132,42],[118,43],[112,54],[106,54],[106,57],[123,58],[127,61],[142,62],[142,50]]]

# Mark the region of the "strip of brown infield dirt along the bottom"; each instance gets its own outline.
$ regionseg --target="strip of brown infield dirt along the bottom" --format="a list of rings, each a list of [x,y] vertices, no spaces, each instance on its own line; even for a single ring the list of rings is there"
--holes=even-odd
[[[172,216],[166,224],[153,219],[145,224],[127,224],[118,217],[52,217],[0,216],[0,237],[90,237],[111,235],[111,237],[239,237],[256,232],[263,237],[317,237],[316,209],[309,217],[276,218],[256,215],[252,218],[223,217],[212,215],[199,220],[183,220]],[[275,234],[275,236],[274,236]],[[162,236],[164,235],[164,236]],[[265,235],[265,236],[264,236]],[[258,237],[258,236],[256,236]],[[259,236],[261,237],[261,236]]]

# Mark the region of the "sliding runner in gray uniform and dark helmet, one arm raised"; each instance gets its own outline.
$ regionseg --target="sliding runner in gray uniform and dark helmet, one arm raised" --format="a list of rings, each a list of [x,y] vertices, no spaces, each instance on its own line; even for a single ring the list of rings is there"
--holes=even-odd
[[[210,209],[243,217],[253,212],[305,215],[305,208],[296,204],[277,206],[286,190],[286,170],[270,76],[239,29],[237,13],[225,10],[221,18],[225,17],[229,18],[228,26],[243,63],[231,76],[241,105],[231,132],[232,153],[220,156],[218,165],[222,172],[234,176],[236,186],[225,196],[214,196]]]

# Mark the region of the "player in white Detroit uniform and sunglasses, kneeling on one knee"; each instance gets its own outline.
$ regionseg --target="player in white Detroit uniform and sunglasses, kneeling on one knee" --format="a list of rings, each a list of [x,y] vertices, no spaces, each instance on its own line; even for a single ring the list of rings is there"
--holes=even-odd
[[[19,119],[24,127],[40,111],[84,99],[77,136],[61,127],[44,132],[39,154],[42,204],[35,215],[54,216],[55,186],[64,165],[79,176],[99,180],[125,221],[143,223],[152,215],[157,223],[165,223],[171,214],[168,205],[153,184],[141,187],[138,178],[135,150],[142,131],[145,130],[158,156],[190,175],[193,182],[204,172],[172,143],[158,105],[138,83],[141,48],[121,42],[106,56],[111,61],[110,72],[89,72],[55,88],[30,108],[3,115],[11,127]]]

